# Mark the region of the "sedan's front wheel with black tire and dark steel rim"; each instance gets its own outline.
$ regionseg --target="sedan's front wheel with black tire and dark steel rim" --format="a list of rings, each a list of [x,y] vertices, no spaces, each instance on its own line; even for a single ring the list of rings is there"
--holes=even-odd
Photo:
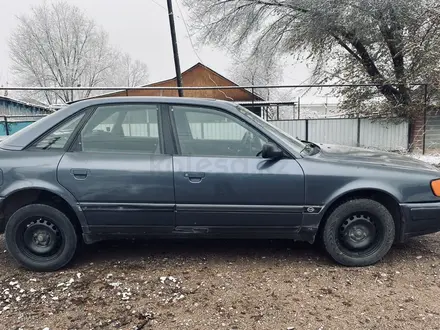
[[[326,251],[336,262],[350,267],[380,261],[393,245],[394,237],[392,215],[385,206],[370,199],[353,199],[338,206],[322,232]]]

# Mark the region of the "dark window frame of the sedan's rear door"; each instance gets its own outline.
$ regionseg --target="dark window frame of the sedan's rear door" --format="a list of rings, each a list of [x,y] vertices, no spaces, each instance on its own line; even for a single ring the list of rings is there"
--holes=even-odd
[[[121,152],[128,153],[128,154],[144,154],[144,155],[166,155],[169,154],[167,152],[166,143],[165,143],[165,136],[164,136],[164,127],[163,127],[163,115],[164,115],[164,107],[162,103],[158,102],[115,102],[115,103],[102,103],[102,104],[96,104],[93,106],[93,110],[90,111],[90,114],[88,115],[87,121],[82,124],[82,127],[80,130],[76,131],[75,138],[72,140],[71,144],[69,145],[69,148],[66,150],[67,152],[84,152],[84,153],[108,153],[104,151],[83,151],[83,150],[77,150],[78,146],[78,140],[81,138],[81,132],[84,128],[84,126],[87,124],[89,119],[93,116],[93,114],[98,110],[101,106],[121,106],[121,105],[153,105],[157,106],[157,129],[158,129],[158,137],[159,137],[159,144],[160,144],[160,153],[146,153],[141,151],[127,151],[127,152]]]

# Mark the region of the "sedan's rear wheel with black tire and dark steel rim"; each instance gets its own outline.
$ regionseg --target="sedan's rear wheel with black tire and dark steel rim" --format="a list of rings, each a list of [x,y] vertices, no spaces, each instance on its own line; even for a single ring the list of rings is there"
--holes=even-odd
[[[5,240],[9,253],[18,263],[41,272],[64,267],[77,248],[76,231],[69,218],[44,204],[18,209],[6,224]]]

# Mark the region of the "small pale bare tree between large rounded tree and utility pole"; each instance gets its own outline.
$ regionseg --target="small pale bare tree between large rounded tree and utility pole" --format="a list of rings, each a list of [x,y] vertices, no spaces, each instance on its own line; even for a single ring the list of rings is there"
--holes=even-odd
[[[129,54],[116,53],[116,65],[108,72],[105,82],[109,86],[140,86],[148,82],[148,66],[133,60]]]

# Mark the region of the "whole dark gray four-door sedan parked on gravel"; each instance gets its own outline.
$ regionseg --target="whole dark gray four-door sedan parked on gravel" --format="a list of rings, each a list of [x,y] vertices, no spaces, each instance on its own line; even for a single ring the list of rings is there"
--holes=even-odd
[[[300,141],[247,109],[189,98],[74,103],[0,143],[10,254],[57,270],[80,241],[319,240],[346,266],[440,230],[440,177],[391,153]]]

